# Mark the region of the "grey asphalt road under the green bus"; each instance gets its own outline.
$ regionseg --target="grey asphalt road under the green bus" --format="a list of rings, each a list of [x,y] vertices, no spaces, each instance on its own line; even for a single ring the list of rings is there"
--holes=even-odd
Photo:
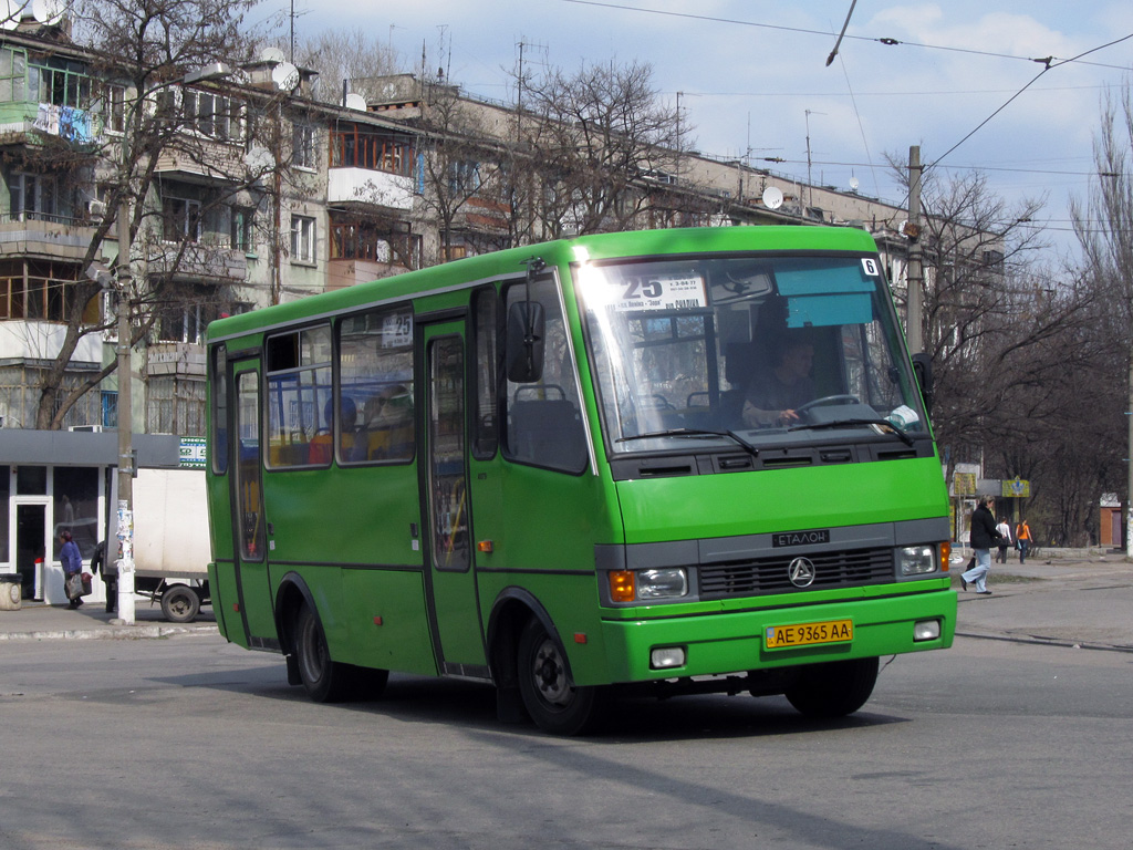
[[[0,847],[1122,848],[1133,654],[960,638],[853,717],[622,704],[566,740],[489,688],[317,706],[215,635],[0,646]]]

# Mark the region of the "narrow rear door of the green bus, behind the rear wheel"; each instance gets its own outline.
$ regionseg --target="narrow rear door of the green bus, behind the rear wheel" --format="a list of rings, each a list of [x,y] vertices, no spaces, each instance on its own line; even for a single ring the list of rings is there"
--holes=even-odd
[[[279,648],[264,533],[258,360],[230,360],[230,380],[236,402],[229,406],[229,457],[236,459],[230,481],[237,604],[248,646]]]

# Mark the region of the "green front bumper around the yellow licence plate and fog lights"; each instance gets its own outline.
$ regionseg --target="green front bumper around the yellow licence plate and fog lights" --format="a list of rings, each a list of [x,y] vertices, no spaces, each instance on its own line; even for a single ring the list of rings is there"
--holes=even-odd
[[[764,635],[770,627],[847,618],[853,621],[853,640],[849,643],[793,649],[764,646]],[[940,621],[940,637],[914,641],[913,623],[932,619]],[[952,646],[955,629],[954,590],[696,618],[605,622],[610,678],[581,665],[577,665],[574,677],[579,685],[631,682],[945,649]],[[649,651],[667,646],[685,648],[685,666],[650,670]]]

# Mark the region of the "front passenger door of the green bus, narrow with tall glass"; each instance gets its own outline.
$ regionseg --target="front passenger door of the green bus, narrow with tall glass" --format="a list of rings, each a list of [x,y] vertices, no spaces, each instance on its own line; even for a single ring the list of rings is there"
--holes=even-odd
[[[426,324],[424,346],[426,595],[437,662],[445,673],[487,675],[472,569],[468,486],[465,322]]]

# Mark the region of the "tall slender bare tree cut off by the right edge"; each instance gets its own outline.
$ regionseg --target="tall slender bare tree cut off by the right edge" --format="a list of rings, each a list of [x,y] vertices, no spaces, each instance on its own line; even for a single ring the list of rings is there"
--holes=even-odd
[[[1082,246],[1084,274],[1111,311],[1110,345],[1124,359],[1124,411],[1133,409],[1133,92],[1107,93],[1101,127],[1093,145],[1097,182],[1085,201],[1074,201],[1071,215]],[[1133,457],[1133,416],[1125,416],[1126,458]],[[1133,558],[1133,462],[1125,461],[1125,551]]]

